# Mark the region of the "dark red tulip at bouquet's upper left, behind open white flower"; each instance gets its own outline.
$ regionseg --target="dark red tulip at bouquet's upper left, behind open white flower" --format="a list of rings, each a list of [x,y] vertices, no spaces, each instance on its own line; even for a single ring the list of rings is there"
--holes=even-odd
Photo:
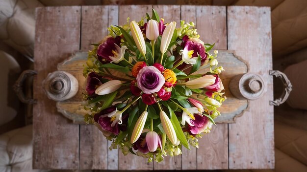
[[[105,40],[97,48],[97,57],[98,60],[102,63],[109,63],[112,60],[109,56],[114,56],[113,52],[116,51],[116,45],[120,46],[121,37],[117,36],[115,38],[109,36],[106,37]]]

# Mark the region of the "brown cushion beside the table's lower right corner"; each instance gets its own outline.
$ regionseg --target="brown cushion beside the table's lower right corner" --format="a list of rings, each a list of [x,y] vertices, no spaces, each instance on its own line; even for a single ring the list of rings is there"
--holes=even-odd
[[[275,122],[275,147],[307,165],[306,130]]]

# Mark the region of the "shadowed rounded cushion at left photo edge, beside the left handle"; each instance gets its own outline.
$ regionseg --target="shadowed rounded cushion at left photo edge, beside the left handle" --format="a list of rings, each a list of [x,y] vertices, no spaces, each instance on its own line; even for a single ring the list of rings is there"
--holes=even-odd
[[[16,60],[0,50],[0,126],[11,121],[17,114],[19,101],[12,90],[17,75],[20,73],[20,66]],[[13,80],[13,81],[12,81]],[[9,99],[10,98],[10,99]],[[10,106],[9,103],[13,103]],[[11,104],[12,105],[12,104]]]

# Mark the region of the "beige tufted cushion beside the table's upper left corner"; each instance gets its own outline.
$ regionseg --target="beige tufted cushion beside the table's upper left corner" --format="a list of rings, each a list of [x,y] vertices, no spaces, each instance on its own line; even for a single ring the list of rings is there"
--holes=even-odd
[[[33,57],[38,0],[0,0],[0,40]]]

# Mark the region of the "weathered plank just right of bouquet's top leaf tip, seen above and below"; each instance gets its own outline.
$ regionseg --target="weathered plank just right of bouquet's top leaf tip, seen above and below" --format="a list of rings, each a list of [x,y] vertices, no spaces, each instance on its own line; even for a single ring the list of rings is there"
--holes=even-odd
[[[179,27],[179,5],[153,5],[153,8],[158,12],[159,17],[164,19],[164,23],[176,21],[176,27]],[[174,157],[166,156],[162,162],[154,162],[154,170],[181,170],[181,155]]]

